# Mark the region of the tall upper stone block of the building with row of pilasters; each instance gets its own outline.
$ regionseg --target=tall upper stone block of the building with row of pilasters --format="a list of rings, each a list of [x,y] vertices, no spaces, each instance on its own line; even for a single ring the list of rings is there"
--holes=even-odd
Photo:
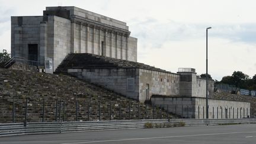
[[[34,49],[34,50],[33,50]],[[126,23],[76,7],[46,7],[43,16],[11,17],[11,55],[53,71],[69,53],[92,53],[137,61],[137,39]]]

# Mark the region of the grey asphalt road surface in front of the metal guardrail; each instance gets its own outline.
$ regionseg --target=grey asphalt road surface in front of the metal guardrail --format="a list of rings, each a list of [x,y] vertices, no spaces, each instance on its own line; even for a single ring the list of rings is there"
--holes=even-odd
[[[256,143],[256,124],[9,136],[0,143]]]

